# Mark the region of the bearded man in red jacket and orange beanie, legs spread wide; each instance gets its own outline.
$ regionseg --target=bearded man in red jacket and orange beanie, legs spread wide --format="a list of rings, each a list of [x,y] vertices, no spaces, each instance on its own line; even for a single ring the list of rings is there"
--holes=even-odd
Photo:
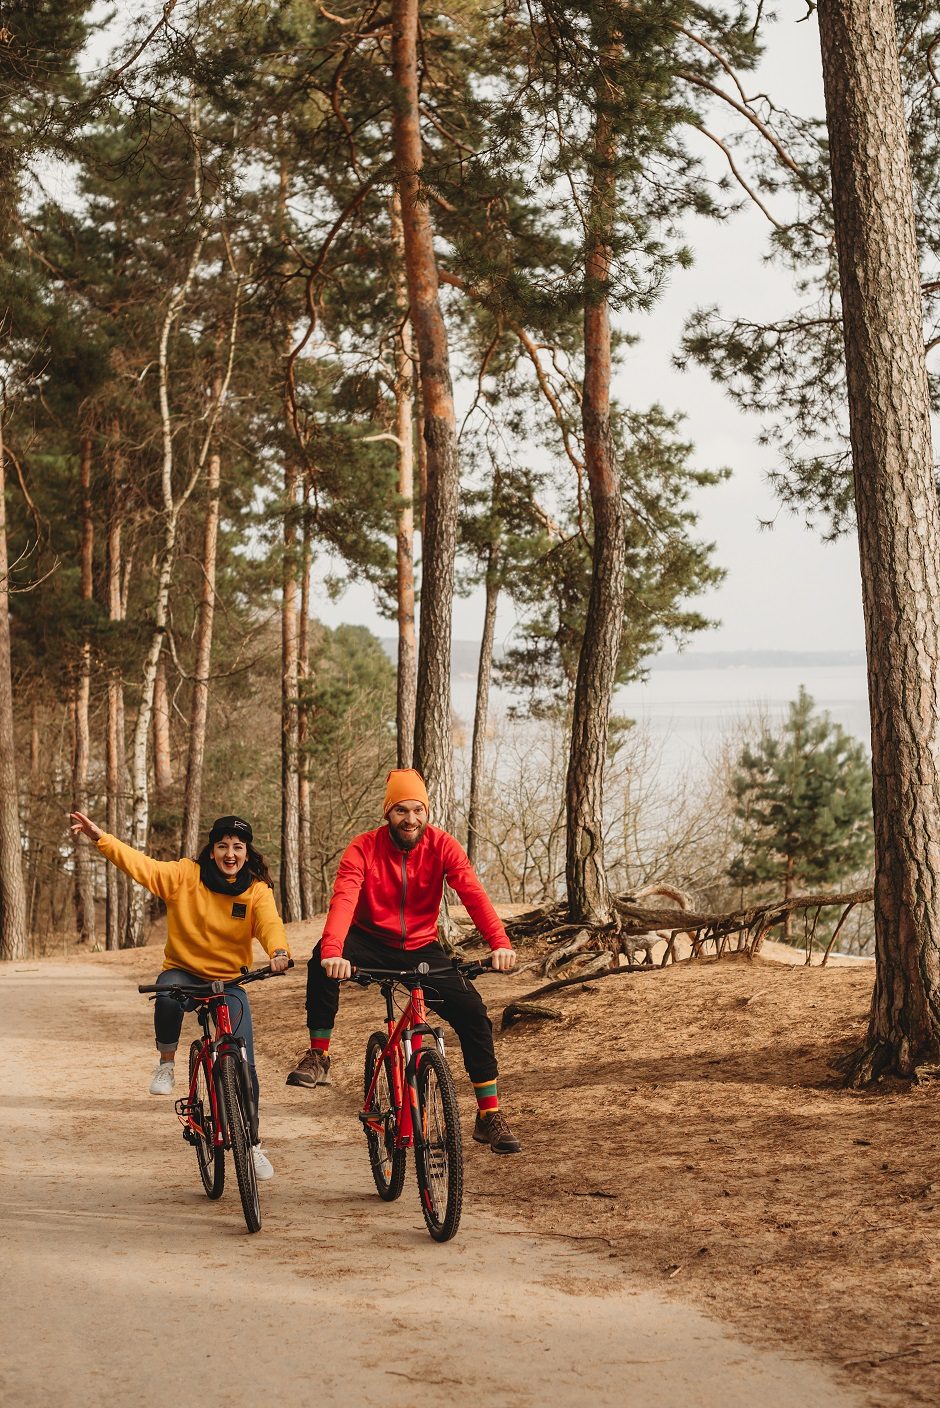
[[[470,918],[493,949],[493,967],[507,973],[515,953],[459,842],[428,825],[428,790],[421,773],[388,773],[387,825],[355,836],[346,846],[324,935],[307,964],[310,1050],[287,1077],[288,1086],[329,1086],[329,1039],[339,1010],[339,981],[362,967],[433,969],[447,964],[438,943],[438,912],[445,880],[463,900]],[[407,959],[404,955],[407,953]],[[473,1138],[494,1153],[518,1153],[519,1140],[500,1110],[493,1024],[483,998],[460,973],[435,976],[428,1007],[457,1033],[463,1063],[477,1097]]]

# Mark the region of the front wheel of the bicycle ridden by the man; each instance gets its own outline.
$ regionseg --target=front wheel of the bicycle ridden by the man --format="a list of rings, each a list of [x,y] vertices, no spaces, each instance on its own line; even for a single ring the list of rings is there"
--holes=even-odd
[[[449,1242],[460,1226],[463,1139],[457,1091],[450,1067],[439,1050],[421,1052],[417,1081],[424,1135],[422,1145],[415,1142],[421,1211],[435,1242]]]

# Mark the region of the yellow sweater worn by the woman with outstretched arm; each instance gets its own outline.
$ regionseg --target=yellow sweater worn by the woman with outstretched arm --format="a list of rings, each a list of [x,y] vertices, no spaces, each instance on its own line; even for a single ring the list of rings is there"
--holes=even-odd
[[[290,953],[274,894],[263,880],[229,898],[203,884],[194,860],[151,860],[108,835],[97,845],[131,880],[166,901],[163,972],[180,967],[196,977],[238,977],[252,964],[252,939],[269,955],[274,949]]]

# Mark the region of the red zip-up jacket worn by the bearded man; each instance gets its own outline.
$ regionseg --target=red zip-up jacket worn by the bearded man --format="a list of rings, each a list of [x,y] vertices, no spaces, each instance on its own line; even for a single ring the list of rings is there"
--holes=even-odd
[[[445,880],[464,903],[490,948],[511,948],[500,915],[453,836],[426,826],[414,850],[398,850],[386,825],[353,836],[343,850],[321,956],[342,957],[352,925],[394,949],[433,943]]]

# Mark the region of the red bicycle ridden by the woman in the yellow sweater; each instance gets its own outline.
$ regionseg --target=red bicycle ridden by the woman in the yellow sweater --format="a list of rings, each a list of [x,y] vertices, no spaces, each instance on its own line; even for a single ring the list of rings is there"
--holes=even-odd
[[[287,964],[293,967],[293,960]],[[227,983],[259,983],[280,977],[269,967],[249,973],[242,969]],[[200,1041],[190,1046],[190,1084],[183,1100],[176,1101],[176,1115],[183,1138],[196,1148],[203,1187],[210,1198],[221,1198],[225,1188],[225,1150],[235,1162],[235,1180],[249,1232],[259,1232],[262,1209],[252,1160],[258,1143],[258,1102],[252,1090],[245,1039],[232,1031],[225,998],[225,983],[172,983],[163,987],[145,984],[138,993],[165,993],[194,1010],[203,1028]]]

